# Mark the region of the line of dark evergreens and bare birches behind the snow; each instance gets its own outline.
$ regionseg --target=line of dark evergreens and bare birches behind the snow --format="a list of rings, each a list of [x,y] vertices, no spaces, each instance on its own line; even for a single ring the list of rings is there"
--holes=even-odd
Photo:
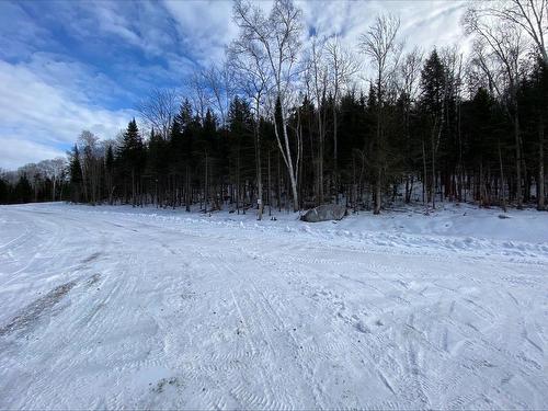
[[[226,60],[155,90],[114,140],[82,132],[62,171],[20,170],[0,202],[299,210],[476,202],[545,209],[548,3],[472,3],[456,46],[404,52],[379,15],[354,48],[304,37],[289,0],[236,1]],[[33,164],[35,165],[35,164]],[[28,169],[28,167],[27,167]],[[39,168],[38,168],[39,169]]]

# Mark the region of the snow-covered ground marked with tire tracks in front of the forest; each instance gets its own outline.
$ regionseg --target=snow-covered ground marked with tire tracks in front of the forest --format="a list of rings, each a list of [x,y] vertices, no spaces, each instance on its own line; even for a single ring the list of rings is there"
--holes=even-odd
[[[548,214],[0,207],[1,409],[544,409]]]

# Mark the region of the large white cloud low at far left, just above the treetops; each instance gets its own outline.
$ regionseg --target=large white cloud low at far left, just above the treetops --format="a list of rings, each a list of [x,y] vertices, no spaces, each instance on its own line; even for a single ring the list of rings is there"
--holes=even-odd
[[[114,137],[135,115],[93,105],[78,81],[70,76],[65,80],[64,84],[62,78],[48,75],[43,79],[32,64],[0,60],[0,167],[22,165],[37,160],[37,153],[58,156],[84,128],[103,138]]]

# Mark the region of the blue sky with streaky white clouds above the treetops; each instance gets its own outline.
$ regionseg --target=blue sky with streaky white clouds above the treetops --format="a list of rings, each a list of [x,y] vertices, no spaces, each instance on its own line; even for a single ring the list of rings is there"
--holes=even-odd
[[[267,2],[261,2],[266,9]],[[410,45],[463,41],[461,1],[298,2],[307,33],[355,48],[379,12]],[[64,156],[82,129],[113,138],[155,88],[182,88],[238,31],[229,1],[0,1],[0,168]]]

